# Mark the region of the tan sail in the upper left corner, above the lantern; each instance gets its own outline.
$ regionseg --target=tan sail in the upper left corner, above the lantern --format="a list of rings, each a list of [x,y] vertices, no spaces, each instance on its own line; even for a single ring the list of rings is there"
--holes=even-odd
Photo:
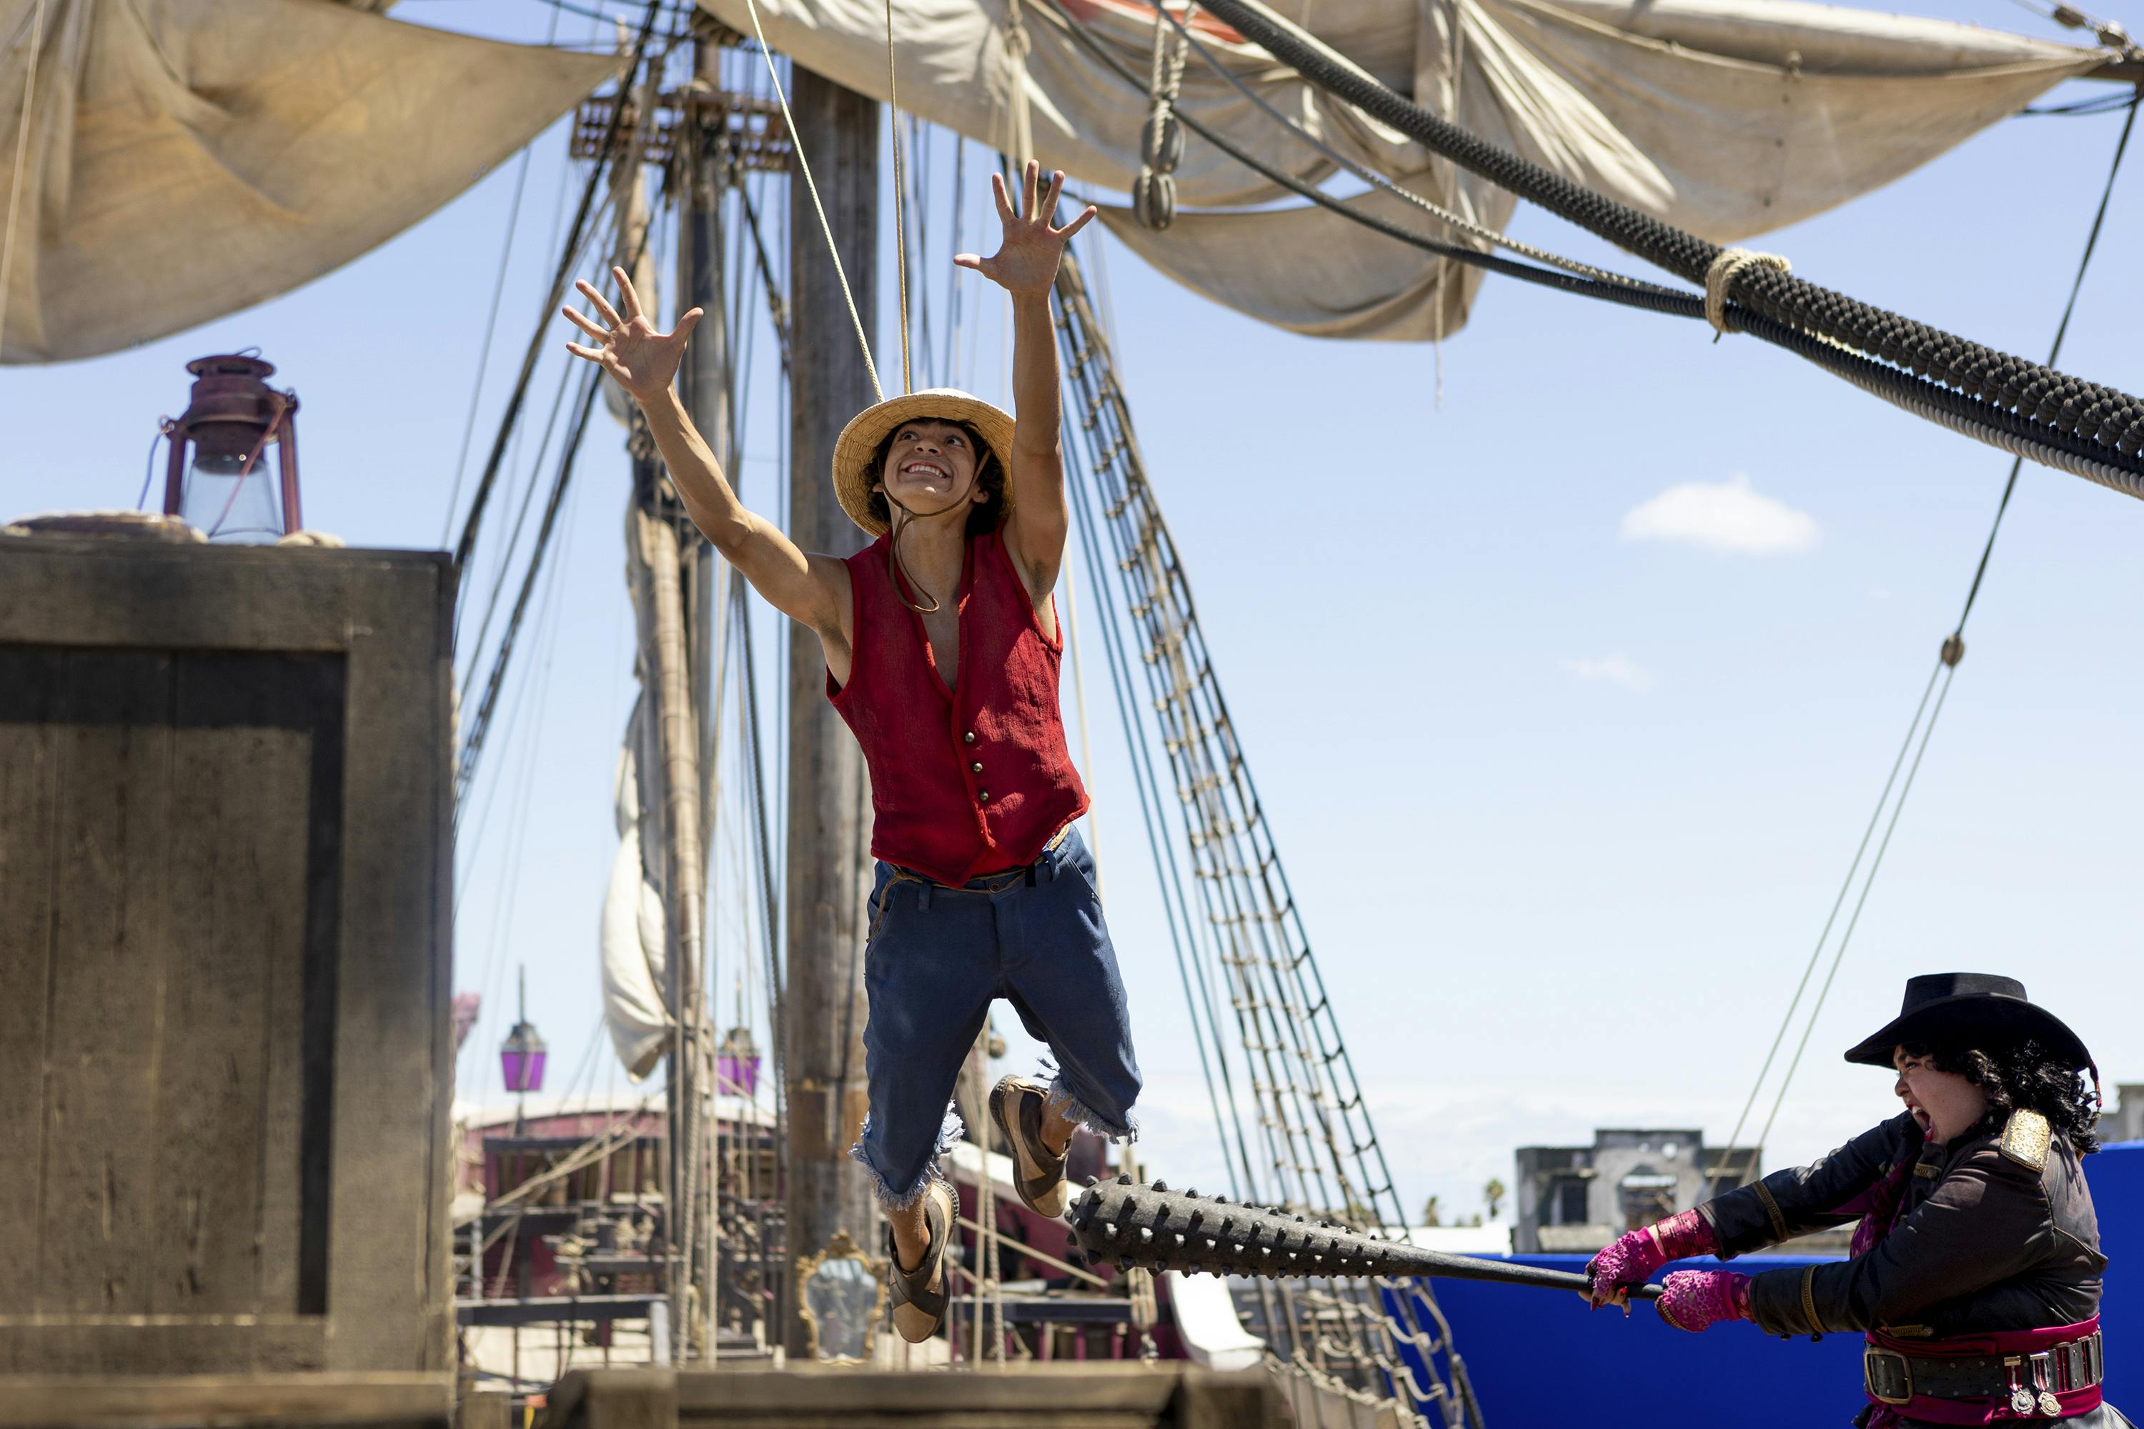
[[[326,0],[0,0],[0,362],[90,358],[317,279],[620,66]]]

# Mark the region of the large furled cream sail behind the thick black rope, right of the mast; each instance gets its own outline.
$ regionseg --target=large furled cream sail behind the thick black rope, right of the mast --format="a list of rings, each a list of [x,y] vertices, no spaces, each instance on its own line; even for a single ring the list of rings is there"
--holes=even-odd
[[[746,0],[701,0],[750,32]],[[757,0],[768,43],[885,99],[881,0]],[[1100,189],[1138,174],[1156,21],[1134,0],[900,0],[903,107],[1012,148],[1025,86],[1036,156]],[[1825,212],[1927,163],[2069,75],[2090,49],[1996,30],[1797,0],[1282,0],[1331,49],[1473,133],[1715,242]],[[1025,73],[1012,26],[1029,39]],[[1096,36],[1136,86],[1081,49]],[[1503,227],[1514,199],[1400,139],[1278,66],[1233,32],[1201,43],[1254,92],[1342,154]],[[1168,34],[1175,34],[1173,30]],[[1196,56],[1183,111],[1263,163],[1323,180],[1331,163],[1282,131]],[[1460,328],[1479,270],[1447,264],[1291,197],[1192,137],[1164,231],[1104,210],[1134,251],[1252,317],[1323,336],[1434,339]],[[1454,238],[1391,195],[1381,216]],[[1209,212],[1198,212],[1209,210]]]

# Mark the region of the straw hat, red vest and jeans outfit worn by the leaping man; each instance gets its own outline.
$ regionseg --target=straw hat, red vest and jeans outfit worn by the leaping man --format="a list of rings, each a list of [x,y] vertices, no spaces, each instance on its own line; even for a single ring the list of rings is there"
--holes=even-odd
[[[1061,1215],[1063,1159],[1042,1140],[1044,1108],[1111,1140],[1134,1135],[1141,1078],[1130,1011],[1093,859],[1074,827],[1087,791],[1059,709],[1063,643],[1044,630],[1006,551],[1010,484],[991,529],[965,542],[950,690],[922,621],[935,606],[920,604],[900,529],[873,503],[873,495],[894,501],[875,491],[881,448],[920,420],[973,431],[986,448],[978,478],[986,461],[1012,465],[1012,416],[950,388],[877,403],[834,446],[843,510],[877,538],[847,559],[853,662],[847,683],[830,671],[825,686],[870,769],[877,859],[864,947],[870,1114],[851,1155],[888,1206],[930,1195],[928,1210],[943,1210],[939,1155],[961,1138],[954,1084],[991,1003],[1008,998],[1029,1035],[1051,1046],[1057,1071],[1046,1086],[1006,1078],[991,1114],[1014,1153],[1021,1200]],[[894,508],[903,518],[935,514]],[[937,1225],[930,1243],[937,1251]]]

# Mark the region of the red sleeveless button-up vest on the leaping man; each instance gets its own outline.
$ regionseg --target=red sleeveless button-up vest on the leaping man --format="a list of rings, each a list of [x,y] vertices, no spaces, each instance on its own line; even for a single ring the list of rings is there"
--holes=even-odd
[[[849,683],[825,694],[870,767],[870,855],[946,885],[1033,863],[1087,812],[1057,666],[999,533],[967,542],[961,675],[948,690],[922,617],[888,572],[888,538],[849,557]]]

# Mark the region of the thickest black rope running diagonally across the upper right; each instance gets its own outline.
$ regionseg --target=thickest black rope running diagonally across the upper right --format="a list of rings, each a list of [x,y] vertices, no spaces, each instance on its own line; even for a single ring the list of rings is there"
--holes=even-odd
[[[1370,118],[1681,279],[1700,281],[1719,257],[1715,244],[1499,150],[1368,75],[1334,62],[1256,0],[1205,4],[1239,34]],[[2144,458],[2138,458],[2144,448],[2144,398],[1994,351],[1762,264],[1743,268],[1726,296],[1777,328],[1874,354],[1906,373],[1927,375],[1955,394],[1983,401],[2002,416],[2015,416],[2026,426],[2024,439],[2045,441],[2054,450],[2067,450],[2060,439],[2078,439],[2090,448],[2090,458],[2144,476]],[[1767,336],[1756,324],[1739,326]]]

